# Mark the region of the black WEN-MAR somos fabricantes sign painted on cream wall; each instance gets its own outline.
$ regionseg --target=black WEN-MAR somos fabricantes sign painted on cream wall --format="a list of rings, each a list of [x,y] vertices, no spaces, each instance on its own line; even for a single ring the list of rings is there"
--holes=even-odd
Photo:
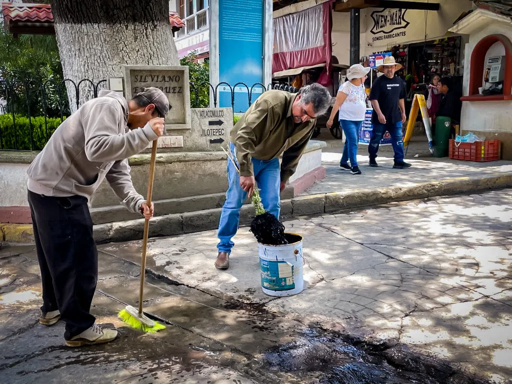
[[[406,31],[396,32],[409,26],[410,23],[406,20],[406,12],[407,9],[388,8],[372,12],[373,28],[370,32],[375,35],[372,37],[372,41],[406,36]]]

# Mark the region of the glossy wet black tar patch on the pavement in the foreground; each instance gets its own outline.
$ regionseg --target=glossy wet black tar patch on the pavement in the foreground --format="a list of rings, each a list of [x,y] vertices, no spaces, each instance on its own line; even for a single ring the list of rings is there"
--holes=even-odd
[[[270,372],[310,377],[321,384],[486,384],[442,360],[416,354],[404,345],[372,344],[319,327],[267,350]]]

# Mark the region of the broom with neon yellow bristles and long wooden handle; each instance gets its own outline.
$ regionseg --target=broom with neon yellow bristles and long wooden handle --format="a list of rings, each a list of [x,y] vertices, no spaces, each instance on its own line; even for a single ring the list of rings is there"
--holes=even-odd
[[[151,195],[153,194],[153,180],[155,178],[155,164],[157,157],[157,141],[153,141],[151,149],[151,164],[150,164],[150,178],[147,182],[147,205],[151,207]],[[140,263],[140,289],[139,289],[139,308],[134,308],[131,305],[126,306],[119,312],[119,317],[124,323],[134,329],[140,329],[144,332],[154,333],[165,329],[164,325],[153,321],[142,312],[142,296],[144,293],[144,276],[146,272],[146,250],[147,238],[150,229],[150,220],[144,221],[144,236],[142,241],[142,261]]]

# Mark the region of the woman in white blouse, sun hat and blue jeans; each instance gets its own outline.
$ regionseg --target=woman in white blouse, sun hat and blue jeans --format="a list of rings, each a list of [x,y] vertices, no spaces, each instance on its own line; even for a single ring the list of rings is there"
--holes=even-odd
[[[345,133],[345,147],[339,166],[350,170],[352,175],[360,175],[361,170],[357,164],[357,143],[359,129],[365,120],[366,93],[365,80],[370,72],[370,67],[354,64],[347,70],[347,79],[338,90],[336,102],[332,108],[331,116],[327,121],[327,127],[332,126],[334,116],[339,108],[339,124]],[[350,160],[350,166],[348,161]]]

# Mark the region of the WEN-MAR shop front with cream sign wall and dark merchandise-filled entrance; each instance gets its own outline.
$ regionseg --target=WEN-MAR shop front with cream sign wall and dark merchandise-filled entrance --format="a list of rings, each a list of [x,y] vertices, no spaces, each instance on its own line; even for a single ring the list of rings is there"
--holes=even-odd
[[[455,76],[462,86],[464,45],[467,37],[447,32],[458,18],[470,11],[467,0],[440,1],[439,11],[368,8],[361,55],[391,52],[403,66],[398,72],[407,82],[412,100],[415,93],[426,93],[435,74]]]

